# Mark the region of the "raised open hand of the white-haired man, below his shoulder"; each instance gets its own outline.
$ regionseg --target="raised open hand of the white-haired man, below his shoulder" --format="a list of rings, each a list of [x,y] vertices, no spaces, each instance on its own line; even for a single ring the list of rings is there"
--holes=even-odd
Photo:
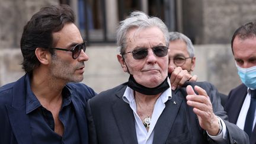
[[[203,88],[195,86],[194,89],[199,95],[194,92],[191,85],[187,86],[187,104],[194,107],[193,111],[199,119],[201,128],[207,130],[209,135],[216,136],[219,132],[219,123],[217,117],[213,113],[210,98]]]

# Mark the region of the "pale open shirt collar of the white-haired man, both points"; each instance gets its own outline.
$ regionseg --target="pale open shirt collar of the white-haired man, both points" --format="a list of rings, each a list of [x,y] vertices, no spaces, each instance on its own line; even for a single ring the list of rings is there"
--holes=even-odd
[[[169,84],[169,88],[167,90],[165,90],[164,92],[162,92],[162,94],[159,97],[159,98],[161,98],[162,103],[165,103],[172,98],[171,82],[169,81],[169,79],[167,79],[167,82]],[[134,91],[132,88],[130,88],[130,87],[126,88],[126,91],[124,91],[123,100],[128,104],[132,103],[134,101]]]

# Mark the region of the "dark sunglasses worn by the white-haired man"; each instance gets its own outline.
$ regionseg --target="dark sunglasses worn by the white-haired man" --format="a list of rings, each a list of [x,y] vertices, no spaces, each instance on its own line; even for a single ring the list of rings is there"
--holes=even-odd
[[[166,46],[156,46],[152,47],[151,49],[158,57],[164,57],[168,54],[168,47]],[[148,48],[139,48],[127,53],[132,53],[133,59],[145,59],[145,57],[148,56]],[[123,53],[122,55],[126,55],[127,53]]]

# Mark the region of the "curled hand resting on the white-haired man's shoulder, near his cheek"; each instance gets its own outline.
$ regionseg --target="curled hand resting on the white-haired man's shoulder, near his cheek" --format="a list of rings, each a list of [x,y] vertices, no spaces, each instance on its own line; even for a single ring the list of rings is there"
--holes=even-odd
[[[175,90],[178,85],[184,85],[186,81],[197,81],[197,75],[190,75],[187,70],[181,69],[180,66],[174,68],[169,66],[168,73],[171,73],[170,81],[172,90]]]

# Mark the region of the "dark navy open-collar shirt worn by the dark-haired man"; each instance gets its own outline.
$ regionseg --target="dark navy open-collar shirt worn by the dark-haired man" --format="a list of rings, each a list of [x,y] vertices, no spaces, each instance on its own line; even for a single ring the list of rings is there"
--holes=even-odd
[[[81,143],[78,123],[72,104],[71,92],[68,87],[62,90],[62,106],[59,111],[59,120],[64,126],[63,136],[55,133],[55,123],[52,113],[44,108],[30,88],[30,79],[25,80],[27,87],[26,114],[28,114],[33,143]]]

